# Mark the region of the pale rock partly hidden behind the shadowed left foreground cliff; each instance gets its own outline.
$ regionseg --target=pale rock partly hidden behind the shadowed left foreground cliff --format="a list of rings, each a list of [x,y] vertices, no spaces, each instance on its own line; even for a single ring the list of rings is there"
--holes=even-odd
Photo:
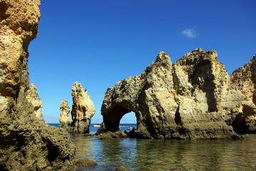
[[[42,114],[42,100],[39,98],[39,93],[36,91],[35,84],[31,84],[29,86],[29,90],[26,91],[26,100],[28,100],[29,103],[32,103],[34,106],[34,113],[36,114],[36,118],[39,118],[39,120],[44,122]]]

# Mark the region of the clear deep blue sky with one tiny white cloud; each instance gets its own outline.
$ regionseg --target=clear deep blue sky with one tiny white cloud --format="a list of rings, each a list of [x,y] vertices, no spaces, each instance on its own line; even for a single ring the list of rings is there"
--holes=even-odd
[[[61,100],[81,83],[101,123],[108,87],[136,76],[165,51],[175,63],[195,48],[216,50],[229,74],[256,54],[256,1],[41,1],[39,36],[29,45],[29,76],[46,123],[58,123]],[[135,123],[135,114],[121,123]]]

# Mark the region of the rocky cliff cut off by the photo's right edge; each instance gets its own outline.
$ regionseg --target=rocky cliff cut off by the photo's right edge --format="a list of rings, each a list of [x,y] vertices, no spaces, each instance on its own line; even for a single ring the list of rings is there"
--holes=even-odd
[[[245,95],[242,112],[232,126],[240,133],[256,133],[256,55],[245,66],[234,71],[230,79],[235,88]]]

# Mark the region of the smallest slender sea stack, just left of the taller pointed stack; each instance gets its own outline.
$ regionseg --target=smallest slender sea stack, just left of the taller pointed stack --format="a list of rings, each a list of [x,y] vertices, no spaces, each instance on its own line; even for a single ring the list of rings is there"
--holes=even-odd
[[[58,118],[58,120],[60,122],[59,127],[69,130],[72,120],[69,115],[70,108],[68,106],[68,101],[66,99],[63,99],[61,101],[60,110],[61,110],[61,115],[60,115],[60,118]]]

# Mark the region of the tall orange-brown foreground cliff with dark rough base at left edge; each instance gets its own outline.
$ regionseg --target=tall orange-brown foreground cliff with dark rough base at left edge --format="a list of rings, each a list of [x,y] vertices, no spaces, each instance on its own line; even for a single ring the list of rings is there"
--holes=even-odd
[[[28,46],[37,36],[39,0],[0,0],[0,170],[73,170],[75,146],[43,123],[26,100]]]

